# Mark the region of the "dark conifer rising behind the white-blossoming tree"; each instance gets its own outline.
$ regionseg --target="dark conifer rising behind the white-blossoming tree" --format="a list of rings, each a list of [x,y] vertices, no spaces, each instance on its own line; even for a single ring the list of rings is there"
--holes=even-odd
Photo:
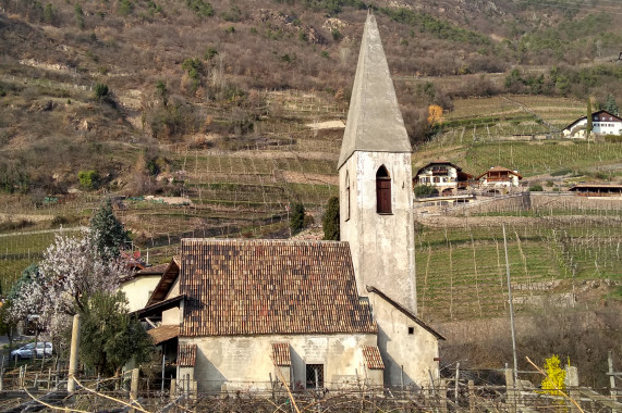
[[[125,242],[130,240],[123,224],[112,212],[112,202],[107,199],[90,220],[90,230],[95,235],[95,245],[102,256],[119,255]]]

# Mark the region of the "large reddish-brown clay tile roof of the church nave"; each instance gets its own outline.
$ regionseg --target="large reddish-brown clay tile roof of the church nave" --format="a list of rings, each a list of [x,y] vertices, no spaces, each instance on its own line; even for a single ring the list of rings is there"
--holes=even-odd
[[[346,242],[183,239],[180,293],[184,337],[377,333]]]

